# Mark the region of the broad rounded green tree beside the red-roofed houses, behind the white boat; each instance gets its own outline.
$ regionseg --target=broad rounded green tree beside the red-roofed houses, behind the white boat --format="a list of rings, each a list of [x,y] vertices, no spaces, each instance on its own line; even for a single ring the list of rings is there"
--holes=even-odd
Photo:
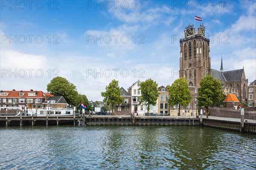
[[[76,105],[78,98],[76,86],[63,77],[53,78],[47,85],[47,91],[54,96],[63,96],[70,105]]]

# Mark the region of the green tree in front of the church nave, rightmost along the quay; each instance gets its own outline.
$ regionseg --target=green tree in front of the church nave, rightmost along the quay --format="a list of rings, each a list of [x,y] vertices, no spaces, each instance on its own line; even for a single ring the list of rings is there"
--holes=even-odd
[[[221,83],[217,79],[210,75],[207,75],[200,82],[200,88],[198,89],[198,106],[209,106],[218,105],[223,102],[223,93],[221,91]]]

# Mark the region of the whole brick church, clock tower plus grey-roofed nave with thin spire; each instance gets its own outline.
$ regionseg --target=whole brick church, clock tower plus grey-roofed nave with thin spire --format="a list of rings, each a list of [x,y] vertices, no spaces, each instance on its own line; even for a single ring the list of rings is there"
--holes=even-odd
[[[180,39],[180,77],[185,77],[189,83],[189,90],[195,93],[200,88],[200,81],[207,74],[221,82],[222,91],[227,95],[236,94],[242,102],[246,99],[248,79],[245,77],[244,68],[239,70],[224,71],[222,57],[220,70],[211,68],[210,43],[205,37],[205,26],[200,24],[198,30],[194,25],[189,25],[184,30],[185,38]],[[196,94],[191,94],[196,97]],[[194,98],[194,97],[193,97]],[[191,105],[196,104],[192,99]]]

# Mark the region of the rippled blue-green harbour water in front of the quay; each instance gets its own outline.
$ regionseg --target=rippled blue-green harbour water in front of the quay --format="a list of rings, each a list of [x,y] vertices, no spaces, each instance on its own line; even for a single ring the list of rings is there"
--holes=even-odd
[[[256,169],[256,135],[189,126],[0,127],[0,169]]]

